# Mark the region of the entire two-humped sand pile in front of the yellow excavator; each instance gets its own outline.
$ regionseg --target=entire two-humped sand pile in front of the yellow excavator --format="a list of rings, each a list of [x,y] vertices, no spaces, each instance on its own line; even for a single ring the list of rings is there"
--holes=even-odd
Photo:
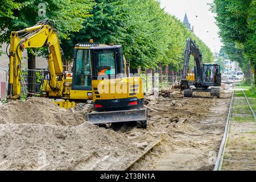
[[[0,106],[0,170],[119,169],[137,152],[121,134],[46,98]]]

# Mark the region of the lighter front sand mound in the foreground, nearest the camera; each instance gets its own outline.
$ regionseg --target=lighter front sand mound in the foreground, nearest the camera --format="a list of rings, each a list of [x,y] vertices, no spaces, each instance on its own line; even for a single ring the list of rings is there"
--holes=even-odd
[[[98,170],[106,156],[123,160],[137,150],[113,131],[90,123],[79,126],[0,125],[0,170]],[[97,162],[99,165],[97,165]]]

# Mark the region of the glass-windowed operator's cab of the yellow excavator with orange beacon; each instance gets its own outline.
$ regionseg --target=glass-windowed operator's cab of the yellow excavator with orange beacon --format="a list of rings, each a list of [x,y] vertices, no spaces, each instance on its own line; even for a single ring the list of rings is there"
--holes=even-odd
[[[93,43],[92,39],[89,43],[75,45],[71,99],[92,100],[93,79],[97,80],[99,75],[115,76],[117,73],[125,73],[123,59],[115,55],[119,52],[118,49],[117,46]]]

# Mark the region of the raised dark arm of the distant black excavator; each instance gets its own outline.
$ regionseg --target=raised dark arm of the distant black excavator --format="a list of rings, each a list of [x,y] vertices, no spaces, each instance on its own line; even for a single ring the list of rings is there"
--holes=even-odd
[[[201,82],[202,69],[203,69],[202,54],[199,47],[196,45],[196,43],[193,42],[191,37],[189,37],[187,39],[185,53],[184,53],[183,74],[181,75],[181,83],[180,83],[181,90],[189,89],[187,75],[188,75],[189,60],[191,55],[195,59],[195,65],[196,65],[195,81],[198,84]]]

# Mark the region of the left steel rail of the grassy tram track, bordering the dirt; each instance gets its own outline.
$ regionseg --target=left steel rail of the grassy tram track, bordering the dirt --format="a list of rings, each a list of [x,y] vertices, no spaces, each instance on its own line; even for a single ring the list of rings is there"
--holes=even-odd
[[[215,163],[213,171],[220,171],[221,170],[223,155],[224,155],[225,147],[226,147],[226,142],[228,140],[228,133],[229,133],[229,125],[230,125],[230,118],[231,118],[231,113],[232,113],[233,100],[234,100],[234,88],[233,88],[233,93],[232,93],[232,99],[231,99],[230,105],[229,105],[228,118],[226,119],[226,126],[225,126],[224,135],[223,135],[223,138],[222,138],[222,141],[221,141],[220,149],[218,151],[218,156],[217,156],[216,163]]]

